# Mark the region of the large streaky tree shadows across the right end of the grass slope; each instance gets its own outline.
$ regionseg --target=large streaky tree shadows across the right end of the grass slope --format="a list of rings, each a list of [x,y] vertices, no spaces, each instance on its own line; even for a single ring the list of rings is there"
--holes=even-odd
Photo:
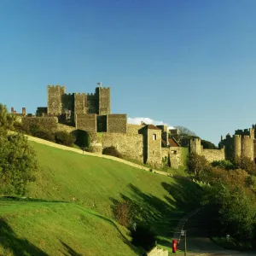
[[[179,219],[200,205],[202,195],[202,189],[197,183],[184,178],[173,179],[170,183],[162,183],[169,194],[164,198],[143,193],[131,183],[128,185],[130,195],[120,194],[121,201],[129,201],[131,205],[132,222],[150,225],[159,236],[158,244],[167,247],[171,246],[172,234]],[[115,212],[121,201],[114,198],[110,200]]]

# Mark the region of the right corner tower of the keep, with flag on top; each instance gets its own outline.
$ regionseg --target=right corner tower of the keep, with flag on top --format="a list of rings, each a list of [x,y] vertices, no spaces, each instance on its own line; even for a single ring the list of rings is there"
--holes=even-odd
[[[106,115],[111,113],[110,87],[96,87],[96,95],[98,96],[98,114]]]

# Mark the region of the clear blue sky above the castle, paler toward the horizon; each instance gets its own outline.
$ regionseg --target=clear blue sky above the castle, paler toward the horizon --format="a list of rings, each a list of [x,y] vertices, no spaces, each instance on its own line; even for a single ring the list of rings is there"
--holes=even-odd
[[[112,87],[112,112],[218,143],[255,119],[255,0],[1,0],[0,102]]]

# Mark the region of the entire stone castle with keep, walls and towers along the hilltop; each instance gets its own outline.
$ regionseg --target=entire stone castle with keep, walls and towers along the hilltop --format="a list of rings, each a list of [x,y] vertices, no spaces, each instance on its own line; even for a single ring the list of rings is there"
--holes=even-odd
[[[126,158],[138,160],[144,164],[161,166],[163,163],[178,168],[184,164],[186,148],[180,147],[173,131],[166,125],[131,125],[127,123],[125,113],[111,113],[111,88],[98,86],[95,93],[66,93],[65,86],[50,86],[48,106],[38,107],[36,116],[26,114],[26,108],[18,114],[26,118],[55,119],[60,130],[72,132],[85,131],[95,152],[114,146]],[[178,132],[178,131],[175,131]],[[256,158],[255,125],[248,130],[237,130],[233,137],[221,137],[219,149],[206,149],[201,146],[200,138],[189,141],[189,152],[204,155],[207,160],[231,160],[239,156]]]

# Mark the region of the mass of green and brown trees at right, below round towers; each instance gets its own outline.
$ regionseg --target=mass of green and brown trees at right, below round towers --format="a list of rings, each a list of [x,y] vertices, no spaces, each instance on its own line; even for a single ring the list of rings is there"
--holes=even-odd
[[[212,232],[229,234],[237,241],[256,239],[256,166],[253,160],[207,162],[204,156],[192,153],[187,159],[187,172],[208,183],[203,206],[213,211]]]

